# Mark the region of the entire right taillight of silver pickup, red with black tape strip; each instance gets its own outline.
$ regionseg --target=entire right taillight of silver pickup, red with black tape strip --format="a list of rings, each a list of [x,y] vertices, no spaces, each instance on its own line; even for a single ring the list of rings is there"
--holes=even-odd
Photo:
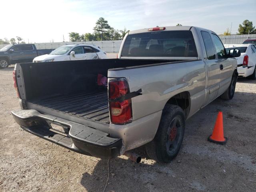
[[[132,122],[132,100],[125,99],[128,93],[130,90],[125,78],[109,79],[108,98],[111,123],[122,125]]]

